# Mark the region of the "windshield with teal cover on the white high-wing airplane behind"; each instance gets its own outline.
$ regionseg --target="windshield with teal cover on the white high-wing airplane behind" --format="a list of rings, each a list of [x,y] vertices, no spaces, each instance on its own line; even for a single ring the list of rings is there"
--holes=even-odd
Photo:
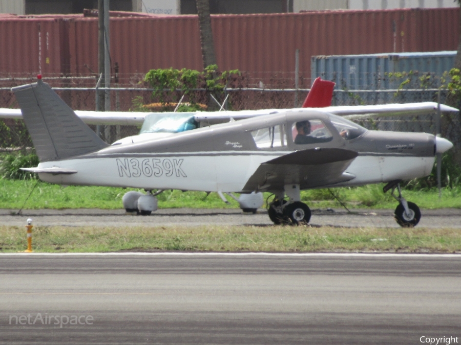
[[[194,112],[164,112],[145,117],[139,134],[178,133],[198,127]]]

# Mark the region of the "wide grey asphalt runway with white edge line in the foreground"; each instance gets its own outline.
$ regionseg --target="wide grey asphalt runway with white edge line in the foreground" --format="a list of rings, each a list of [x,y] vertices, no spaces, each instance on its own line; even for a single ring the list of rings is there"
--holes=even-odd
[[[2,344],[456,343],[460,325],[459,255],[0,255]]]

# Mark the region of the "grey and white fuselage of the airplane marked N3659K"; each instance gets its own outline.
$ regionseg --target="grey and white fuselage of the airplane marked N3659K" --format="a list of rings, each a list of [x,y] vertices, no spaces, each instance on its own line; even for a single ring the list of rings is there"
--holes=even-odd
[[[301,189],[307,189],[412,179],[431,172],[434,135],[362,130],[355,134],[357,137],[345,138],[331,121],[337,118],[320,111],[297,110],[215,125],[40,163],[39,168],[59,167],[77,173],[40,173],[39,177],[62,185],[248,193],[275,191],[299,178],[305,181]],[[324,125],[320,134],[330,140],[295,144],[294,124],[306,119]],[[309,162],[309,154],[315,154],[316,150],[329,152],[336,148],[354,152],[355,157],[342,159],[341,151],[330,159],[336,163]],[[300,156],[299,161],[270,163],[287,154],[302,155],[302,152],[306,156]],[[336,169],[333,164],[339,163],[344,171],[333,171]],[[264,166],[275,167],[274,172],[260,171]],[[328,174],[332,177],[322,182],[322,175]]]

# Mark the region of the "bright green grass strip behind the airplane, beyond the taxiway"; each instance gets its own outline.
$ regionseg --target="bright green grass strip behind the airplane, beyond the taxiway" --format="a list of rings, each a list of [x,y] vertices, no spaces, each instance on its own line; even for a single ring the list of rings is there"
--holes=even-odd
[[[121,209],[124,193],[131,190],[113,187],[61,187],[37,180],[7,179],[0,179],[0,188],[0,208],[3,209]],[[331,191],[348,208],[394,209],[397,201],[390,192],[384,194],[382,188],[383,185],[368,185],[336,188]],[[415,202],[423,209],[461,208],[461,188],[443,189],[441,199],[435,189],[407,190],[403,194],[407,200]],[[265,198],[268,196],[266,194]],[[325,189],[303,191],[301,197],[311,209],[342,207]],[[235,200],[228,197],[229,204],[225,204],[216,193],[206,196],[205,192],[165,191],[158,195],[158,199],[159,208],[238,208]]]

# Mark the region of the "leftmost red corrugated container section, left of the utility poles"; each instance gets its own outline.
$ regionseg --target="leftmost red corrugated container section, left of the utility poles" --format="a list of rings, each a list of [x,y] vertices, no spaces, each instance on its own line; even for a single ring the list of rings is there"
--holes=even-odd
[[[61,19],[0,20],[0,73],[3,75],[61,73],[61,47],[67,37],[61,30],[66,24]]]

